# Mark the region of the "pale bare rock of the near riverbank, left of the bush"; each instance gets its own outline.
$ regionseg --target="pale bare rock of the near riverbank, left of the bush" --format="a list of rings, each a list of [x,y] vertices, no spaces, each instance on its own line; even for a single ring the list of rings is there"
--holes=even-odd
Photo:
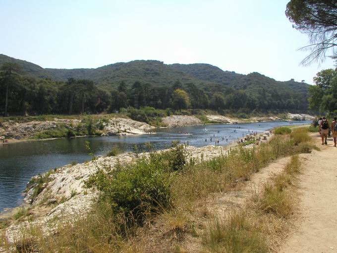
[[[225,152],[224,147],[213,145],[200,148],[187,146],[184,149],[188,159],[210,159]],[[85,181],[90,175],[96,173],[99,168],[114,168],[118,162],[132,163],[137,157],[148,154],[124,153],[115,157],[98,157],[87,163],[63,166],[33,177],[27,185],[25,196],[25,202],[30,206],[29,211],[5,228],[6,238],[13,242],[19,230],[36,225],[47,233],[53,233],[53,220],[61,217],[71,219],[90,210],[97,197],[97,191],[85,187]]]

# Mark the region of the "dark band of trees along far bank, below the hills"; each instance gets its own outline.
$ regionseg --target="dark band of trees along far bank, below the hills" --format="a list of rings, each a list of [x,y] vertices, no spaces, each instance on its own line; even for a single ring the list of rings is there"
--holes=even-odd
[[[66,82],[24,75],[15,63],[0,69],[0,112],[10,114],[79,114],[113,112],[127,107],[158,109],[283,109],[306,110],[306,96],[280,94],[264,88],[254,92],[224,85],[197,86],[180,81],[154,86],[136,81],[130,87],[121,81],[110,91],[92,80],[69,78]]]

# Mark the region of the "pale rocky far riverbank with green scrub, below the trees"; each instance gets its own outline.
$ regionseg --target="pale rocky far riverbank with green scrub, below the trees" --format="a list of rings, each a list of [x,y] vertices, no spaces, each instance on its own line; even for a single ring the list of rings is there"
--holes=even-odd
[[[238,119],[222,115],[205,115],[202,117],[200,116],[199,118],[195,116],[173,115],[163,118],[162,123],[168,127],[183,127],[199,126],[205,124],[205,122],[215,124],[240,124],[281,120],[311,121],[315,117],[307,114],[289,113],[282,119],[276,116]],[[91,127],[91,130],[88,129],[89,127]],[[73,137],[92,134],[112,136],[144,134],[151,132],[153,128],[154,126],[150,126],[149,124],[125,118],[99,119],[92,123],[83,120],[55,118],[53,121],[31,121],[26,123],[17,123],[13,121],[4,122],[0,124],[0,136],[5,136],[11,140]]]

